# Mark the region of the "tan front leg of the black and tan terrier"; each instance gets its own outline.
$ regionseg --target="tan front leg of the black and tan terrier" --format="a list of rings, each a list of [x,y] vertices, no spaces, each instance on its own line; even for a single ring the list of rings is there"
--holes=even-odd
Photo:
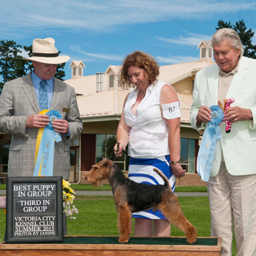
[[[119,204],[118,210],[118,229],[120,232],[120,237],[118,239],[119,243],[127,243],[132,232],[132,214],[127,204]]]

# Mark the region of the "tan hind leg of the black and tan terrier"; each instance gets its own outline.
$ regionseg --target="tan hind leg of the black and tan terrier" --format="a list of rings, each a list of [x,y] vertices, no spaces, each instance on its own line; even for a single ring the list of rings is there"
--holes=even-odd
[[[186,234],[188,243],[191,244],[196,242],[196,229],[186,219],[175,194],[171,192],[165,193],[162,202],[159,204],[159,209],[163,212],[164,216],[169,219],[170,223]]]

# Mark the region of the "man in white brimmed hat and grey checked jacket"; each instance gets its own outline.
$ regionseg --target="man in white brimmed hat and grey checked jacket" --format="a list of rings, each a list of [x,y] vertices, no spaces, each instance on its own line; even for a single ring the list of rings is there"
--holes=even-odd
[[[69,60],[68,56],[59,56],[54,43],[52,38],[35,39],[33,56],[24,58],[32,61],[33,72],[4,84],[0,97],[0,132],[12,134],[8,177],[33,176],[38,129],[49,124],[49,116],[39,113],[52,109],[62,116],[52,122],[54,131],[62,138],[54,145],[53,176],[69,178],[69,141],[81,134],[83,124],[74,88],[54,77],[57,65]]]

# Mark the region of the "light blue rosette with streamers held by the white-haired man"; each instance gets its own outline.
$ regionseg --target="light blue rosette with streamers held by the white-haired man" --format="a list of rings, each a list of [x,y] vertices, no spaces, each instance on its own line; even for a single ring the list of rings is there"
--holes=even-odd
[[[204,131],[196,166],[199,176],[204,181],[208,181],[210,177],[216,142],[222,138],[219,124],[224,117],[223,110],[219,106],[213,105],[210,108],[212,119]]]

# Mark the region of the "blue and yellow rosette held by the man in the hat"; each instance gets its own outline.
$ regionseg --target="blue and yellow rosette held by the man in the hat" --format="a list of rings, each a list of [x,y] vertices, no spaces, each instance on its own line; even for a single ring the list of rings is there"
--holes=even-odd
[[[36,164],[34,170],[34,177],[48,176],[51,177],[53,173],[53,160],[54,160],[54,141],[61,141],[59,132],[55,132],[52,127],[52,122],[55,119],[61,119],[60,112],[56,110],[50,110],[45,115],[49,116],[50,122],[44,128],[42,138],[40,141],[40,147],[36,157]]]

